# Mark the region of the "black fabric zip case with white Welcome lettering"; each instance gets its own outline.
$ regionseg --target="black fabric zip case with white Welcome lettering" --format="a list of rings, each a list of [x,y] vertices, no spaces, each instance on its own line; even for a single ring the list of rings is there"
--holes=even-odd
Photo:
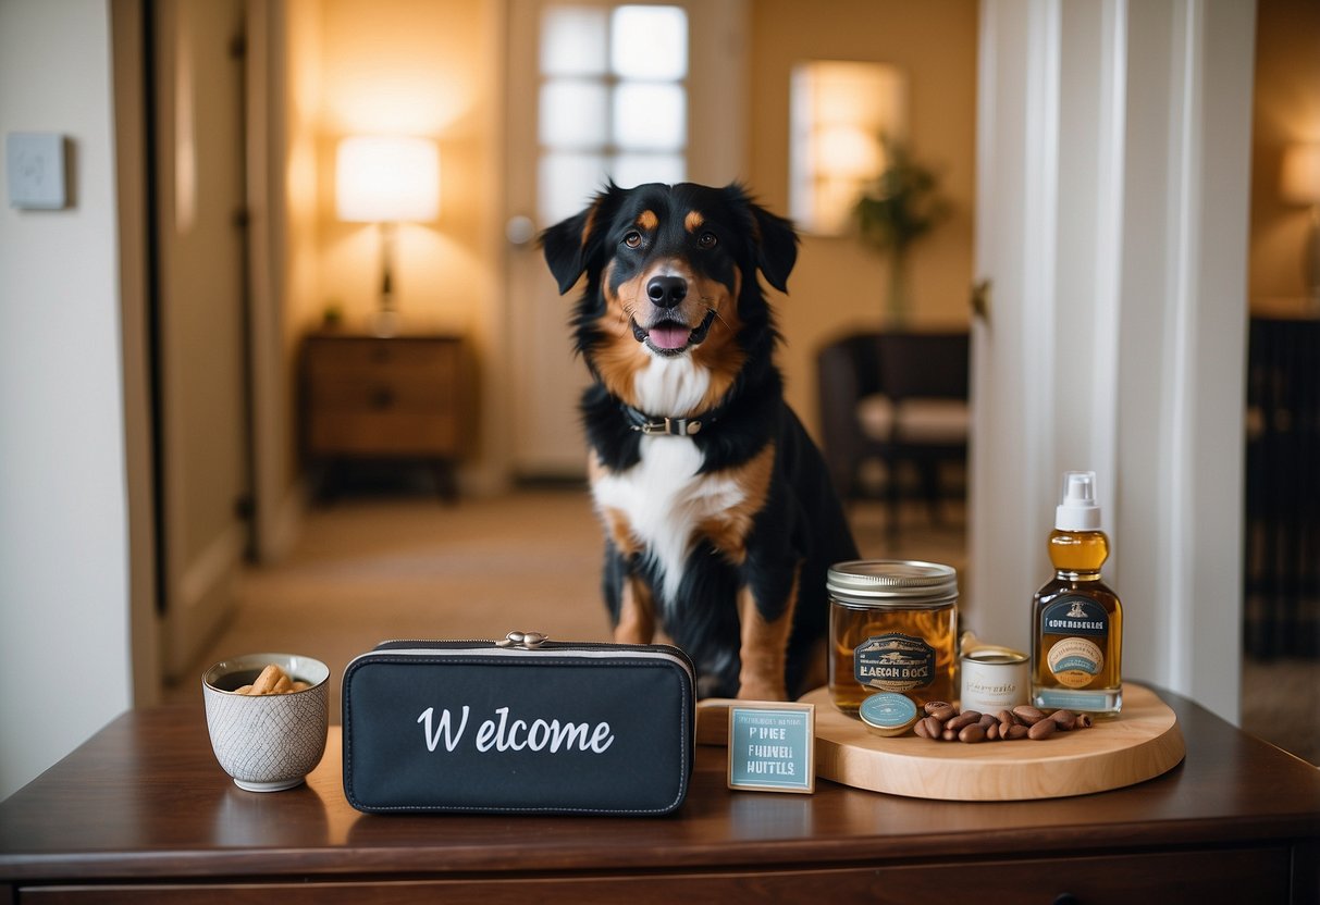
[[[387,641],[343,674],[345,796],[367,813],[668,814],[694,678],[668,645]]]

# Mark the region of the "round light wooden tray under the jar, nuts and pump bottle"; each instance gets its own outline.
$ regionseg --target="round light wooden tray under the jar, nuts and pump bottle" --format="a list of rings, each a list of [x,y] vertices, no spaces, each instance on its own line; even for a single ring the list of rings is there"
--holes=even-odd
[[[1187,753],[1173,711],[1154,691],[1123,683],[1123,711],[1044,741],[931,741],[884,737],[845,716],[817,689],[816,774],[858,789],[948,801],[1022,801],[1106,792],[1154,778]]]

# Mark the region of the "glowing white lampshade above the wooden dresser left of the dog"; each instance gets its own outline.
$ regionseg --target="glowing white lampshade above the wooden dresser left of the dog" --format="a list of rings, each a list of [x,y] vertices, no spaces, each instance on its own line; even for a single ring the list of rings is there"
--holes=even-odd
[[[355,223],[434,220],[440,150],[426,139],[354,136],[335,153],[335,212]]]

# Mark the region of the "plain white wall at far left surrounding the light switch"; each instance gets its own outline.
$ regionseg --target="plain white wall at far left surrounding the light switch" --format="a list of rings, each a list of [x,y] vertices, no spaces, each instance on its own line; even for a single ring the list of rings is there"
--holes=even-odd
[[[0,798],[131,703],[108,4],[0,0],[0,135],[75,203],[0,208]]]

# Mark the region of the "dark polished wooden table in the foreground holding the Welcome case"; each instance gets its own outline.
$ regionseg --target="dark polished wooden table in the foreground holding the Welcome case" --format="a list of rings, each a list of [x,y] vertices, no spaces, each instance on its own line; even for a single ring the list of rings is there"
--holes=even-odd
[[[1187,759],[1115,792],[734,793],[698,747],[686,802],[652,819],[359,814],[338,727],[306,786],[246,793],[201,702],[135,711],[0,802],[0,902],[1320,901],[1320,770],[1162,697]]]

